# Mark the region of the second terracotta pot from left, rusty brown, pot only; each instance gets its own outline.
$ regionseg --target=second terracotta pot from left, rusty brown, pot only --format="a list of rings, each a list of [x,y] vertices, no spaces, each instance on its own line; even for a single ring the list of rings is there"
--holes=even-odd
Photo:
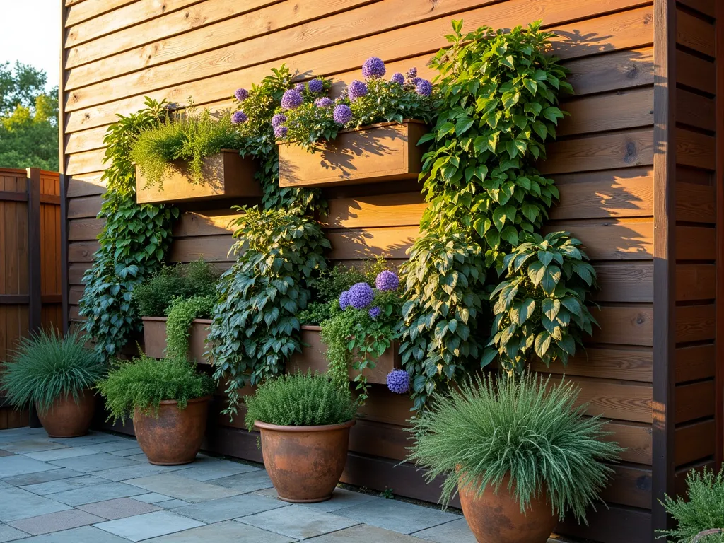
[[[193,462],[201,449],[206,432],[206,415],[211,396],[188,400],[183,411],[175,400],[163,400],[159,416],[153,411],[143,414],[138,408],[133,413],[133,428],[141,450],[148,462],[159,466],[177,466]]]

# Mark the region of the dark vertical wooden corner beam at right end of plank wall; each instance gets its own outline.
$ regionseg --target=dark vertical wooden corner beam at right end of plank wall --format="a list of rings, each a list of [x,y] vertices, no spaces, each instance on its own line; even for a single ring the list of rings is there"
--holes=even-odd
[[[654,0],[654,530],[670,522],[659,500],[673,492],[675,468],[675,58],[675,0]]]

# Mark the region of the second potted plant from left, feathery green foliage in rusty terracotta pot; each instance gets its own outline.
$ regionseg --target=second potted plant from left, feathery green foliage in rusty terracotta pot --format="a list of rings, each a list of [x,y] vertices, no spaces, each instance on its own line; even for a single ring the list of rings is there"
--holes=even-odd
[[[133,428],[148,462],[175,466],[193,462],[206,432],[206,416],[214,382],[185,359],[156,360],[146,355],[116,361],[108,378],[98,383],[106,399],[109,421]]]

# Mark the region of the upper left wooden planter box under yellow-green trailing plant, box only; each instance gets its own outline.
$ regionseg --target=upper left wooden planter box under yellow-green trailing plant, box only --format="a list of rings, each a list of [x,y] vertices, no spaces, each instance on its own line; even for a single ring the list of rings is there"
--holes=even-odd
[[[261,185],[254,179],[256,164],[239,151],[224,149],[203,161],[203,182],[193,183],[185,161],[174,161],[171,171],[159,185],[146,187],[146,176],[136,166],[138,203],[175,203],[261,196]]]

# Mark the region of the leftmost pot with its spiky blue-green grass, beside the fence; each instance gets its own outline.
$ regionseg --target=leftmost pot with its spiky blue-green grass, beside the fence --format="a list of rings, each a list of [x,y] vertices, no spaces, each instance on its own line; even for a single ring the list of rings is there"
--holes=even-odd
[[[88,433],[96,408],[91,390],[106,373],[104,361],[77,332],[54,329],[22,340],[12,359],[0,364],[0,390],[16,408],[35,405],[50,437]]]

